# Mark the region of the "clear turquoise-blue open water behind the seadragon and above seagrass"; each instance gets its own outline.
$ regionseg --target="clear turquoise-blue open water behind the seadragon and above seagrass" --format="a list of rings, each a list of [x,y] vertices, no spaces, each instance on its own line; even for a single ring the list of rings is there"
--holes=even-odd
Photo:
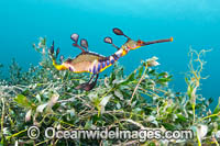
[[[220,1],[219,0],[11,0],[0,2],[0,63],[14,57],[28,68],[37,65],[40,55],[32,48],[40,36],[53,40],[66,57],[80,53],[72,47],[72,33],[88,40],[89,49],[110,55],[116,49],[103,43],[111,36],[120,46],[125,38],[116,36],[120,27],[132,38],[153,41],[174,36],[173,43],[155,44],[133,50],[120,60],[130,72],[141,59],[157,56],[162,71],[174,75],[172,87],[185,91],[189,46],[207,53],[202,81],[204,97],[218,101],[220,96]],[[108,69],[108,71],[111,70]],[[7,72],[6,72],[7,74]],[[216,104],[216,103],[215,103]]]

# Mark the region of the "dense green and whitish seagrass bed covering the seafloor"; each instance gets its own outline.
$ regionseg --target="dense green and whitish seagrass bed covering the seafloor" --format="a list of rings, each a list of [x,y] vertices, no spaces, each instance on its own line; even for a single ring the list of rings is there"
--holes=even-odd
[[[0,79],[0,145],[219,145],[220,100],[210,110],[211,99],[201,90],[202,56],[207,50],[189,52],[186,92],[168,87],[172,76],[158,72],[157,58],[142,60],[125,76],[123,67],[114,65],[110,75],[99,79],[91,91],[75,90],[88,80],[86,74],[58,71],[52,66],[46,40],[34,48],[42,54],[40,66],[28,71],[13,59],[10,77]],[[163,65],[163,63],[161,63]],[[2,66],[1,66],[2,67]],[[1,69],[1,68],[0,68]],[[3,75],[0,75],[3,76]],[[218,98],[218,97],[215,97]],[[37,139],[28,137],[28,128],[36,125]],[[46,127],[56,130],[193,130],[193,139],[47,139]]]

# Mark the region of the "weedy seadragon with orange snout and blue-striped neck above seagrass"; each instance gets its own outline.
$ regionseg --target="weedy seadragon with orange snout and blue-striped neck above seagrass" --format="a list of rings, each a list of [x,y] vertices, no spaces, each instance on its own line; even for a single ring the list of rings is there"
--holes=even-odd
[[[64,61],[64,57],[61,56],[61,58],[59,58],[59,60],[62,63],[61,65],[56,63],[56,58],[59,54],[59,48],[57,48],[56,54],[54,54],[54,42],[53,42],[53,44],[50,48],[50,55],[53,60],[53,66],[57,70],[69,70],[73,72],[90,72],[90,74],[92,74],[92,76],[88,82],[81,83],[76,87],[76,89],[82,89],[82,90],[89,91],[96,86],[99,74],[101,71],[103,71],[105,69],[107,69],[108,67],[110,67],[111,65],[113,65],[120,57],[127,55],[130,50],[136,49],[141,46],[173,41],[173,37],[166,38],[166,40],[151,41],[151,42],[144,42],[141,40],[133,41],[119,29],[113,29],[113,33],[117,35],[122,35],[122,36],[127,37],[127,42],[121,47],[118,47],[112,43],[111,37],[105,37],[103,41],[106,43],[111,44],[113,47],[116,47],[118,49],[114,54],[112,54],[108,57],[89,52],[88,50],[88,42],[85,38],[81,38],[80,45],[78,45],[77,43],[78,43],[79,35],[76,33],[72,34],[70,38],[74,41],[73,46],[81,49],[81,53],[78,56],[76,56],[75,58],[68,58],[65,61]],[[92,81],[95,76],[96,76],[96,79]]]

